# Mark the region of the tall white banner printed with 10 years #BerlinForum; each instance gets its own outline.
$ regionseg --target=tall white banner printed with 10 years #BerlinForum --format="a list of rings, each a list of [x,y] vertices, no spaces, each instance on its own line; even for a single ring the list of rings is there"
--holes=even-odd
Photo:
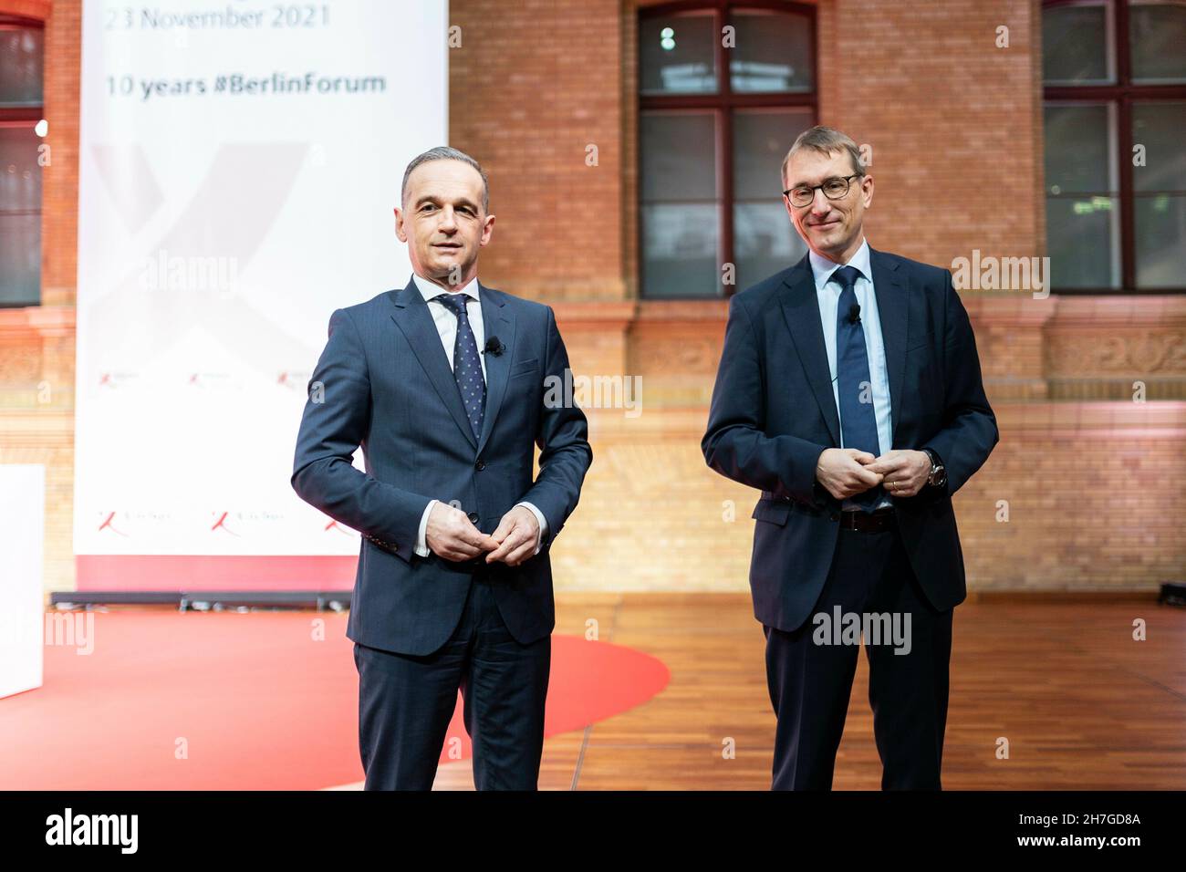
[[[340,306],[403,287],[445,0],[83,6],[77,555],[357,554],[288,479]]]

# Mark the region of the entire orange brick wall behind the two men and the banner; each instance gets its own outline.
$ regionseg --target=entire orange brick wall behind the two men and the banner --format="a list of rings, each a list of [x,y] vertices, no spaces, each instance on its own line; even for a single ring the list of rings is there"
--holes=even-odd
[[[0,0],[18,6],[51,5]],[[452,0],[449,139],[491,177],[483,280],[554,304],[579,373],[643,376],[642,415],[591,412],[594,465],[556,543],[557,587],[745,590],[755,495],[700,454],[725,305],[638,299],[636,15],[630,0]],[[873,146],[874,247],[938,265],[1044,252],[1039,21],[1037,0],[818,4],[820,116]],[[53,2],[47,27],[46,305],[0,311],[0,463],[49,465],[46,587],[69,590],[77,0]],[[1186,299],[964,300],[1002,433],[956,496],[969,584],[1144,588],[1186,574],[1173,522],[1186,510]],[[1133,401],[1136,381],[1148,402]]]

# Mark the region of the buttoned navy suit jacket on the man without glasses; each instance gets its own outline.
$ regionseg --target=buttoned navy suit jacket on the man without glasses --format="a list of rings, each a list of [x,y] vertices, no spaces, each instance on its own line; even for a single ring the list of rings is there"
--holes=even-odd
[[[519,501],[540,509],[548,522],[540,553],[517,567],[493,564],[490,572],[516,639],[534,642],[555,625],[548,552],[593,459],[588,424],[573,403],[544,403],[544,380],[562,382],[568,368],[551,307],[479,288],[485,336],[505,346],[485,354],[479,439],[415,281],[333,312],[310,380],[292,485],[363,535],[346,636],[371,648],[431,654],[460,619],[474,562],[414,552],[433,498],[453,502],[483,533]],[[351,465],[359,445],[365,472]],[[541,456],[533,480],[535,445]]]

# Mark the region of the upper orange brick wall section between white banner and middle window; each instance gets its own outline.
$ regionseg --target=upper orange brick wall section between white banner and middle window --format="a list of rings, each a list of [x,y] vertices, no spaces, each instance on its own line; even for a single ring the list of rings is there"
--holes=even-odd
[[[617,0],[449,4],[449,139],[491,182],[483,280],[523,297],[620,300]],[[591,147],[595,147],[595,166]]]

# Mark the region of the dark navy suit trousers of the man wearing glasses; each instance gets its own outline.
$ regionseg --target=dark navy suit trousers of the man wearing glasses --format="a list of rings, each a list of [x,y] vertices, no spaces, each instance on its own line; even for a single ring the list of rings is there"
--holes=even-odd
[[[865,616],[897,622],[890,634],[881,632],[885,623],[876,632],[869,624],[865,638],[881,789],[940,790],[954,609],[937,611],[926,600],[897,526],[841,529],[808,620],[792,632],[765,626],[766,680],[778,718],[772,789],[831,789],[859,656],[850,639],[837,644],[837,606],[841,616],[861,616],[862,626]]]

